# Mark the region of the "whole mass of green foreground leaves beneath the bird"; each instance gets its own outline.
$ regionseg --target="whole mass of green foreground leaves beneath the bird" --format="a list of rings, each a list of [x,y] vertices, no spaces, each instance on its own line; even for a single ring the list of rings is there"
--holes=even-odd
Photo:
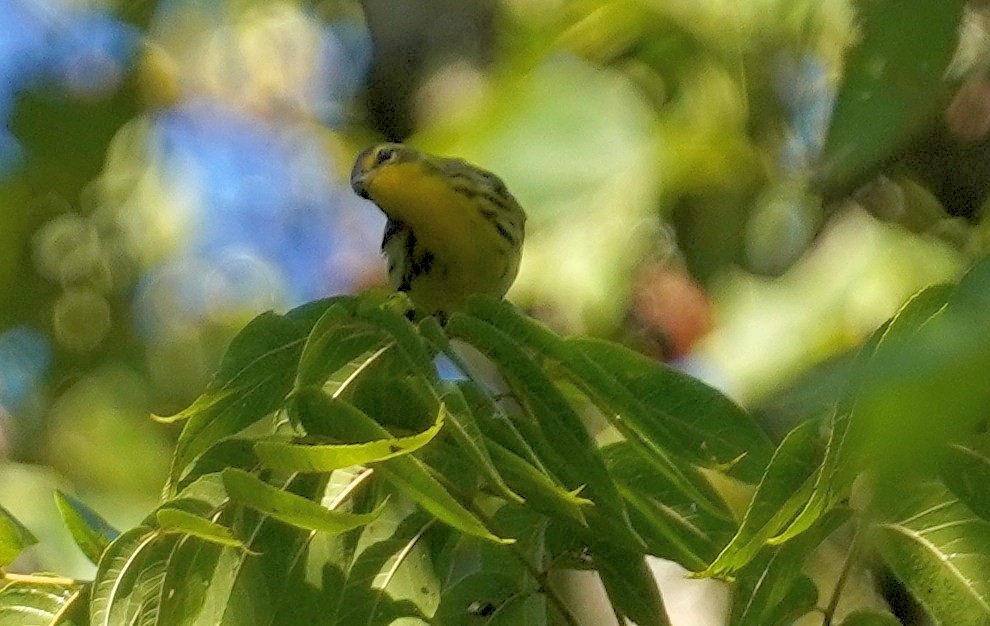
[[[184,422],[160,505],[118,532],[58,494],[96,576],[6,574],[0,624],[575,624],[551,582],[574,568],[667,624],[649,557],[731,581],[733,625],[830,623],[874,560],[940,623],[987,623],[988,303],[990,261],[919,293],[776,447],[690,376],[506,303],[444,327],[367,295],[266,313],[159,418]],[[0,522],[6,566],[34,538]],[[826,541],[847,566],[822,590]]]

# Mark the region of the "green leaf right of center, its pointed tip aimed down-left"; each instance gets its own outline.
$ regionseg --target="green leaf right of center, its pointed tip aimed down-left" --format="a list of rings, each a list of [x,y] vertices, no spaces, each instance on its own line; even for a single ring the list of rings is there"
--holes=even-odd
[[[699,575],[725,577],[749,563],[805,505],[820,459],[816,420],[788,433],[770,460],[736,536]]]

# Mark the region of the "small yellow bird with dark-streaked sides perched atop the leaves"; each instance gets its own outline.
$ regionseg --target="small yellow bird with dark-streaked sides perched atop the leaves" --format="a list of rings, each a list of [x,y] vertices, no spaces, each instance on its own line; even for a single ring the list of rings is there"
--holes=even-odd
[[[401,143],[358,154],[351,188],[388,218],[381,251],[413,316],[441,323],[468,297],[502,298],[522,258],[526,213],[495,174]]]

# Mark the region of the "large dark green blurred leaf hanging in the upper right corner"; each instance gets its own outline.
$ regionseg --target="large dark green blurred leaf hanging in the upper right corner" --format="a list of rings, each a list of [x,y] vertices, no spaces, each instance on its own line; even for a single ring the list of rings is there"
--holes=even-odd
[[[816,178],[829,198],[849,194],[935,119],[959,39],[965,0],[861,0],[859,38],[846,56]]]

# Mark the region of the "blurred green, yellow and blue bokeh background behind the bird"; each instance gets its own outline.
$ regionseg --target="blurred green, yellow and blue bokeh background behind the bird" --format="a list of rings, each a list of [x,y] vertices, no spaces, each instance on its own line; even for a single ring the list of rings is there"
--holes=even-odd
[[[916,129],[944,154],[881,145],[896,166],[828,194],[844,0],[0,0],[0,502],[42,536],[25,567],[86,572],[53,487],[121,526],[151,508],[177,429],[149,416],[247,320],[383,284],[383,216],[347,184],[382,140],[506,181],[518,305],[785,430],[986,247],[982,11]]]

